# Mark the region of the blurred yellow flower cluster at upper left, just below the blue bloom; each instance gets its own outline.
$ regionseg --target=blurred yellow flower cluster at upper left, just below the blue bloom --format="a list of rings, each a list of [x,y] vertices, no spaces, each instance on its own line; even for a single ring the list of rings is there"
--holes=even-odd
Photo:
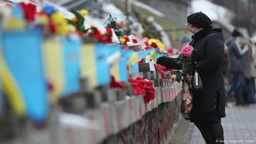
[[[68,33],[67,20],[63,18],[60,13],[53,13],[51,19],[56,26],[56,34],[63,35]]]

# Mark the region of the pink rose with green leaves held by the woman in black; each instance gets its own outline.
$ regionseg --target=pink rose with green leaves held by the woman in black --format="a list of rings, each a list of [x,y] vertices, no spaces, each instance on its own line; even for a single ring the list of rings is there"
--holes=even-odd
[[[173,74],[176,75],[176,80],[177,82],[181,81],[181,76],[185,76],[186,73],[188,73],[188,69],[191,66],[192,62],[192,52],[193,52],[193,47],[188,45],[184,46],[181,49],[181,54],[175,59],[174,62],[177,64],[182,64],[182,72],[181,71],[174,71]]]

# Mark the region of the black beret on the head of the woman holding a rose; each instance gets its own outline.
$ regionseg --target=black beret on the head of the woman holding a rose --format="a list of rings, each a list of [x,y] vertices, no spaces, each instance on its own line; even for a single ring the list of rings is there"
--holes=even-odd
[[[208,27],[212,24],[211,19],[203,12],[196,12],[187,17],[187,22],[195,27]]]

